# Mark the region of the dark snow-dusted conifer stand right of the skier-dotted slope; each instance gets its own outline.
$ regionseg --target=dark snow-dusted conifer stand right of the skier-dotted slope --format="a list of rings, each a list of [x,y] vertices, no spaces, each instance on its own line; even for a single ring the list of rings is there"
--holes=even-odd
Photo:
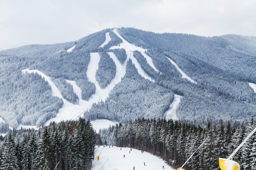
[[[130,147],[150,152],[164,159],[173,168],[179,168],[206,140],[184,166],[186,170],[219,170],[218,158],[227,158],[256,127],[249,122],[208,121],[205,127],[198,123],[172,119],[135,119],[100,129],[102,143]],[[234,155],[241,170],[256,168],[256,134]]]

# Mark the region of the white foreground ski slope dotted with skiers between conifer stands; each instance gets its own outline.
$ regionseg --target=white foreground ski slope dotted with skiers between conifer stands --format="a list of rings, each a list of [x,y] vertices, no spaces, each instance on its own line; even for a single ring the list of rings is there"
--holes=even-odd
[[[150,153],[141,153],[140,150],[119,147],[95,147],[95,158],[92,162],[92,170],[160,170],[164,166],[165,170],[174,170],[164,160]],[[101,153],[100,153],[101,152]],[[100,160],[97,156],[100,155]],[[125,155],[125,158],[124,158]],[[144,166],[144,162],[145,165]]]

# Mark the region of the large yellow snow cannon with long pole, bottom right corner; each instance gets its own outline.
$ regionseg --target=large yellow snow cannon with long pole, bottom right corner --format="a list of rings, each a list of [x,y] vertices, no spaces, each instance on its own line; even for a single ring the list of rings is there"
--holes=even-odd
[[[242,141],[242,143],[234,150],[234,152],[227,158],[219,158],[219,166],[221,170],[240,170],[240,165],[232,160],[234,154],[244,145],[244,143],[254,134],[256,127],[253,131]]]

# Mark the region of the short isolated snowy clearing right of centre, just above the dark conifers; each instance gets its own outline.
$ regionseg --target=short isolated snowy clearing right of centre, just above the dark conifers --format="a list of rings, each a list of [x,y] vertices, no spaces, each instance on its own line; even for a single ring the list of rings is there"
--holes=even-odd
[[[180,99],[182,98],[182,96],[176,95],[174,94],[174,100],[173,102],[170,104],[169,109],[165,112],[164,116],[165,118],[168,119],[173,119],[173,120],[177,120],[178,117],[176,115],[176,110],[180,104]]]

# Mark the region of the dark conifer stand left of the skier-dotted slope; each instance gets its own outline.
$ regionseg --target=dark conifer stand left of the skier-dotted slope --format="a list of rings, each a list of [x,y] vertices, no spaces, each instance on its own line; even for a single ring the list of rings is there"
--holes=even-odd
[[[96,143],[90,120],[52,122],[0,136],[1,170],[90,170]]]

